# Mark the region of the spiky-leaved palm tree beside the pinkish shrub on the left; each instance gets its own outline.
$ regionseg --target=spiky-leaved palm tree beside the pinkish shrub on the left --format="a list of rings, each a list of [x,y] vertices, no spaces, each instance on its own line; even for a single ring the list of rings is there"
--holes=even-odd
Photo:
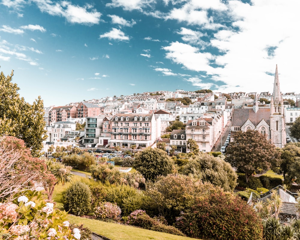
[[[51,160],[46,160],[46,165],[47,171],[51,173],[56,179],[56,182],[53,185],[45,187],[48,199],[51,200],[55,185],[64,185],[67,182],[72,182],[74,175],[73,173],[71,173],[71,166],[65,166],[64,164],[58,162],[53,163],[51,162]]]

